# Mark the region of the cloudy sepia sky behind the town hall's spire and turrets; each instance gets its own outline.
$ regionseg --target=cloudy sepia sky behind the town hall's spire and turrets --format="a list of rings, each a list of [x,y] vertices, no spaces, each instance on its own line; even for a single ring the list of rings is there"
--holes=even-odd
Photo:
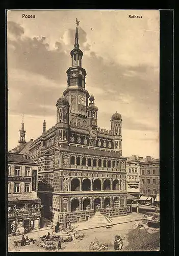
[[[121,113],[122,155],[159,157],[159,11],[148,10],[8,11],[8,148],[18,144],[22,113],[27,141],[41,135],[44,119],[55,125],[76,17],[98,126],[110,130]]]

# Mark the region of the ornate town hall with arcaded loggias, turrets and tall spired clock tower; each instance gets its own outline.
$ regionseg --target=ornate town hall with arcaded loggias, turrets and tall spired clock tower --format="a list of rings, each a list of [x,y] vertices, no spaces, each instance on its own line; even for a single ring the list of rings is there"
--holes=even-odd
[[[61,222],[65,209],[71,222],[88,220],[96,210],[108,217],[126,215],[121,115],[112,115],[110,131],[97,128],[98,108],[86,90],[77,27],[70,54],[67,88],[56,104],[57,122],[46,131],[44,121],[42,135],[30,145],[39,167],[43,216]]]

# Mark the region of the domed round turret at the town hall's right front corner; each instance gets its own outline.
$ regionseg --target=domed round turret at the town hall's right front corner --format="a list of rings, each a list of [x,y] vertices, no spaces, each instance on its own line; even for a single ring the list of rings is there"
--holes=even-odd
[[[114,150],[122,155],[122,117],[114,113],[111,117],[111,131],[113,132]]]

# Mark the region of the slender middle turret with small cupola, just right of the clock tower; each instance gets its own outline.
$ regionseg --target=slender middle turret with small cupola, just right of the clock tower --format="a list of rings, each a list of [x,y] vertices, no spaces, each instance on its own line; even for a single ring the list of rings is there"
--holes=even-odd
[[[89,105],[87,106],[87,125],[89,129],[90,145],[95,146],[97,140],[97,106],[94,105],[94,96],[89,98]]]

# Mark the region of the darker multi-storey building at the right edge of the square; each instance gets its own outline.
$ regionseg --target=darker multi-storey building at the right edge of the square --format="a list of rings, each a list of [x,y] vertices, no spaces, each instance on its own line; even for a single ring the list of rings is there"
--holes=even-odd
[[[156,198],[160,193],[160,160],[147,156],[140,166],[140,195]],[[152,202],[154,200],[152,199]]]

